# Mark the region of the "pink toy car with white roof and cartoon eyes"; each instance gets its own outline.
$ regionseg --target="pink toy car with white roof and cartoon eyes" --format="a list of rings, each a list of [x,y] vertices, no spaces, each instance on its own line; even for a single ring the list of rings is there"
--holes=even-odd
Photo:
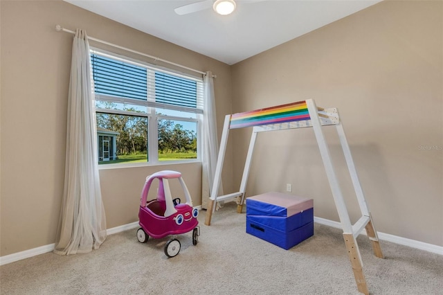
[[[157,198],[147,201],[147,193],[154,179],[159,179]],[[186,203],[180,204],[179,198],[172,199],[169,186],[170,179],[178,179]],[[138,242],[147,242],[149,236],[159,239],[167,235],[178,235],[192,231],[192,244],[196,245],[200,235],[198,215],[199,210],[192,207],[192,199],[185,181],[181,178],[181,173],[169,170],[156,172],[146,177],[145,186],[143,186],[141,193],[140,211],[138,212],[138,224],[141,228],[137,231]],[[166,256],[177,256],[180,247],[181,244],[175,237],[168,240],[164,249]]]

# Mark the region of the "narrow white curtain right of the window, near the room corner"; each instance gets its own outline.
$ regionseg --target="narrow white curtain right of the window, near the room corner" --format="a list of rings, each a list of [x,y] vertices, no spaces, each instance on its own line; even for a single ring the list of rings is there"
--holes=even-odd
[[[202,208],[206,208],[208,197],[213,188],[215,167],[219,153],[217,137],[217,116],[215,114],[214,78],[213,73],[206,72],[204,82],[204,143],[203,143],[203,175],[202,175]],[[218,195],[223,195],[223,186],[220,181]]]

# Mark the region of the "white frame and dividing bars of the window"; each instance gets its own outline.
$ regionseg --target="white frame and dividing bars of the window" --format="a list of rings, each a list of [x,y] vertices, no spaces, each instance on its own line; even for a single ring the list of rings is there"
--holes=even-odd
[[[143,62],[142,60],[136,60],[132,57],[127,57],[125,55],[120,55],[118,53],[112,53],[101,48],[90,47],[89,56],[97,54],[102,55],[120,62],[126,62],[129,64],[134,64],[136,66],[143,66],[147,69],[147,99],[141,100],[136,98],[124,98],[119,96],[111,96],[101,93],[96,93],[93,87],[93,107],[96,114],[116,114],[125,116],[138,116],[147,118],[147,161],[143,163],[110,163],[98,165],[99,170],[102,169],[113,169],[113,168],[132,168],[132,167],[143,167],[143,166],[159,166],[159,165],[171,165],[171,164],[183,164],[183,163],[201,163],[203,154],[203,114],[204,114],[204,85],[203,77],[197,75],[190,75],[188,73],[182,73],[173,69],[168,69],[163,66],[157,66],[155,64],[150,64],[148,62]],[[153,71],[150,73],[149,71]],[[152,84],[149,82],[149,78],[155,75],[155,71],[167,73],[168,75],[174,75],[179,78],[185,78],[189,80],[195,80],[197,82],[197,107],[184,107],[179,105],[169,105],[163,102],[155,102],[155,89],[152,88]],[[93,70],[91,65],[91,80],[93,82]],[[93,83],[92,83],[93,85]],[[123,105],[134,105],[139,107],[146,107],[146,112],[136,112],[136,111],[126,111],[118,109],[103,109],[96,107],[96,101],[102,102],[116,102]],[[171,116],[156,114],[156,109],[169,109],[172,111],[184,111],[188,113],[195,114],[195,118],[188,118],[182,116]],[[183,121],[196,123],[196,136],[197,136],[197,158],[196,159],[183,159],[183,160],[170,160],[170,161],[160,161],[159,160],[159,119],[173,120],[173,121]]]

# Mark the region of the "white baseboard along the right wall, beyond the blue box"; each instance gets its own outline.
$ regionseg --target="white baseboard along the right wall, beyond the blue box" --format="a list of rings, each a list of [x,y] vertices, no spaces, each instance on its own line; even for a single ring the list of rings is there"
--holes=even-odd
[[[341,224],[340,222],[334,222],[332,220],[325,220],[324,218],[321,217],[314,217],[314,222],[317,222],[318,224],[324,224],[327,226],[332,226],[335,227],[336,229],[341,229]],[[366,231],[363,229],[363,231],[361,232],[363,235],[366,235]],[[379,235],[379,240],[383,240],[383,241],[387,241],[387,242],[392,242],[395,244],[401,244],[403,246],[408,246],[411,248],[415,248],[415,249],[419,249],[419,250],[424,250],[424,251],[428,251],[428,252],[432,252],[432,253],[436,253],[436,254],[440,254],[443,255],[443,247],[434,245],[434,244],[428,244],[425,242],[419,242],[416,240],[410,240],[407,238],[401,238],[397,235],[390,235],[389,233],[381,233],[379,231],[377,231],[377,235]]]

